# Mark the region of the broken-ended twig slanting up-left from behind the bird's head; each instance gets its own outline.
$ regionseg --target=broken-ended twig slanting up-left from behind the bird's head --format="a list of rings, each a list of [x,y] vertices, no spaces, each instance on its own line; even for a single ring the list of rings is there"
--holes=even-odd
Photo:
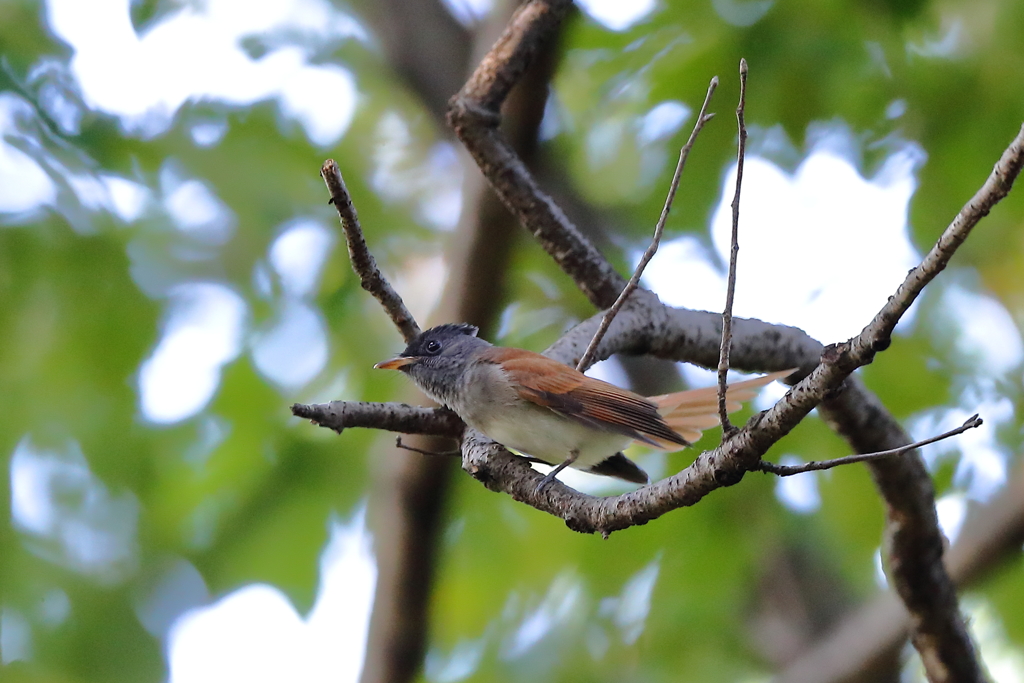
[[[355,206],[352,204],[348,188],[345,187],[345,180],[341,177],[338,164],[333,159],[328,159],[321,168],[321,175],[331,191],[331,204],[341,216],[345,242],[348,244],[348,257],[352,262],[352,269],[359,276],[359,285],[380,302],[406,342],[413,341],[420,334],[420,326],[406,308],[401,297],[377,267],[377,260],[370,253],[367,241],[362,237],[359,217],[355,213]]]

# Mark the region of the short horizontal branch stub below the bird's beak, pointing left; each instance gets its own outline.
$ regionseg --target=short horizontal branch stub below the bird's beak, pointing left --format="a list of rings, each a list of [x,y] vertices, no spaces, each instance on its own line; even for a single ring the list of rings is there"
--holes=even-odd
[[[339,434],[349,427],[370,427],[401,432],[458,438],[465,428],[459,416],[446,408],[419,408],[407,403],[369,403],[333,400],[330,403],[295,403],[292,415],[333,429]]]

